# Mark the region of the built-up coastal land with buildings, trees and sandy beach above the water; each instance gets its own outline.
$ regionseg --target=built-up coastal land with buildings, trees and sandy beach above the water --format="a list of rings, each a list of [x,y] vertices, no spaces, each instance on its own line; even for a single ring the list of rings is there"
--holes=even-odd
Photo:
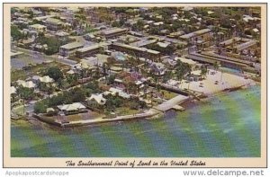
[[[11,117],[155,118],[261,81],[258,7],[12,7]]]

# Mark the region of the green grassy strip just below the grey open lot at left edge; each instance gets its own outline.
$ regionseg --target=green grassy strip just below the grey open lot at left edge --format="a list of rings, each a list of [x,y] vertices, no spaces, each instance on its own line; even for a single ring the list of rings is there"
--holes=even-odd
[[[25,80],[27,77],[32,75],[40,75],[46,71],[51,66],[57,66],[61,69],[69,67],[67,65],[57,63],[57,62],[51,62],[51,63],[43,63],[38,64],[36,66],[31,66],[29,69],[17,69],[11,72],[11,81],[17,81],[18,79]]]

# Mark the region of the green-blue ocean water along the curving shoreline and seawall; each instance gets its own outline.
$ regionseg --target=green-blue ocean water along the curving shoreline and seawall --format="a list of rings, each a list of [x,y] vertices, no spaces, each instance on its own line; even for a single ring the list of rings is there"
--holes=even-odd
[[[58,129],[13,124],[13,157],[259,157],[261,87],[194,102],[163,119]]]

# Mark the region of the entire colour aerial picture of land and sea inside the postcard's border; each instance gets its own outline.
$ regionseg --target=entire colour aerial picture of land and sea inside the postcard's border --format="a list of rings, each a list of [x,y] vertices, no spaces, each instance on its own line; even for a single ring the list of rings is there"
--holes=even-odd
[[[260,156],[251,7],[10,12],[12,156]]]

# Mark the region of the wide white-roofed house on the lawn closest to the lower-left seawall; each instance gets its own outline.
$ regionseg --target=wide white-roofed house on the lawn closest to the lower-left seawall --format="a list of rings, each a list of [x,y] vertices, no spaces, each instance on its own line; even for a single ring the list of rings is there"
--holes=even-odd
[[[58,105],[58,110],[63,111],[66,115],[79,112],[85,112],[85,105],[80,102],[73,102],[72,104]]]

